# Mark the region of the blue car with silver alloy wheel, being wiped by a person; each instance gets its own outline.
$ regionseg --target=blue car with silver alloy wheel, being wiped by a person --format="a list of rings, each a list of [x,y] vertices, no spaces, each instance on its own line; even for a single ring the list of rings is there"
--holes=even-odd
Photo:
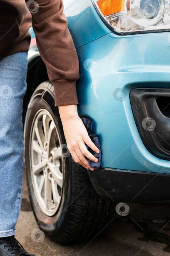
[[[170,2],[64,5],[80,64],[78,113],[93,120],[101,166],[87,171],[72,160],[32,28],[24,162],[37,224],[68,243],[95,237],[128,203],[170,199]]]

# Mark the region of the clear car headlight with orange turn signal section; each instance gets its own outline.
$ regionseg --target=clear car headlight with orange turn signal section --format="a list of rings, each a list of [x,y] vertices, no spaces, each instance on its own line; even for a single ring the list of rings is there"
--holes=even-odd
[[[92,0],[118,34],[170,31],[170,0]]]

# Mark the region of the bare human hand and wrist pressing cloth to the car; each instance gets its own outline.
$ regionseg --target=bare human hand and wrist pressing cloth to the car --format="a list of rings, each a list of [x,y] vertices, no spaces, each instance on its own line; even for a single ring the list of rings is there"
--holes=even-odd
[[[85,143],[96,153],[99,153],[99,149],[88,136],[86,127],[82,119],[78,116],[77,105],[59,106],[59,113],[67,147],[74,161],[86,169],[94,170],[94,168],[90,167],[84,156],[94,162],[98,162],[98,159],[87,150]]]

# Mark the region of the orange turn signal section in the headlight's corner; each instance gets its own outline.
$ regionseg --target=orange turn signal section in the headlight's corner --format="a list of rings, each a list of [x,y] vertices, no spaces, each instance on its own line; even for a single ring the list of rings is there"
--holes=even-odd
[[[98,0],[97,4],[104,16],[124,11],[124,0]]]

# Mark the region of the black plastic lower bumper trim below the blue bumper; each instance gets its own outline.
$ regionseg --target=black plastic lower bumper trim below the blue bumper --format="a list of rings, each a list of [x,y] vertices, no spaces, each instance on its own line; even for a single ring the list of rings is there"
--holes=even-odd
[[[100,168],[88,170],[96,192],[116,202],[146,203],[170,200],[170,174]]]

